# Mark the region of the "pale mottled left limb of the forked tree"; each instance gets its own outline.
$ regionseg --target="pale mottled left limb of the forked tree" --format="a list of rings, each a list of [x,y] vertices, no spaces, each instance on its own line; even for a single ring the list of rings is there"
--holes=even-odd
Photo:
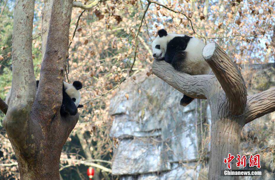
[[[23,138],[35,97],[32,32],[34,0],[17,0],[12,37],[12,88],[3,125],[11,138]],[[17,139],[18,140],[18,139]],[[20,140],[19,140],[20,141]]]

